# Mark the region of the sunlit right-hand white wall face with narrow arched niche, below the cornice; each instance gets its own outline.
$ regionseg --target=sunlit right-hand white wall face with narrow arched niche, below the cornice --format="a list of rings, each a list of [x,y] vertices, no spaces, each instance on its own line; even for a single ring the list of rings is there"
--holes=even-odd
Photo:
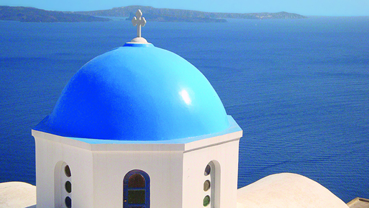
[[[217,197],[219,203],[210,208],[236,208],[237,176],[238,176],[238,148],[239,138],[236,140],[208,146],[201,149],[184,152],[183,177],[183,208],[201,208],[206,195]],[[220,165],[220,181],[216,178],[220,188],[220,196],[205,192],[203,185],[209,177],[204,175],[210,161],[217,161]],[[220,184],[219,184],[220,183]],[[212,189],[215,188],[212,184]]]

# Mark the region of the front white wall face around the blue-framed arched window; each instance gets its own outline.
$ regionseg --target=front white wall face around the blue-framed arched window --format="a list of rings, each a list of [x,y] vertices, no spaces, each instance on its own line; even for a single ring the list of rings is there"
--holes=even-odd
[[[123,178],[139,169],[150,176],[152,208],[181,208],[181,151],[94,151],[94,208],[122,208]]]

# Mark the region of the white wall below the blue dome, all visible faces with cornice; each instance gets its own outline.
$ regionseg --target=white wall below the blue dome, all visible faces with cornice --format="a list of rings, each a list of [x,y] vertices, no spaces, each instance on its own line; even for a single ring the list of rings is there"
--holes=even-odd
[[[123,178],[135,169],[150,176],[152,208],[203,207],[209,194],[203,190],[204,170],[210,161],[220,166],[216,179],[220,196],[215,198],[219,206],[215,208],[236,207],[242,131],[187,143],[88,143],[34,130],[32,135],[36,142],[37,208],[54,207],[54,169],[60,161],[72,173],[74,208],[122,208]]]

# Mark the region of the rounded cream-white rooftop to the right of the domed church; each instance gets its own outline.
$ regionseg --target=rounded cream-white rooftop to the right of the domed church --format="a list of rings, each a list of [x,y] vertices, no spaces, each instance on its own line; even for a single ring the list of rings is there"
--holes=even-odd
[[[295,173],[266,176],[238,189],[237,208],[348,208],[319,183]]]

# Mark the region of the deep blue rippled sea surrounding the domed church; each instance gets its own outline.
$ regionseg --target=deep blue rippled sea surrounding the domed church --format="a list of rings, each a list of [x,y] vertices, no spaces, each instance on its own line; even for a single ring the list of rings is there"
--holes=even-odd
[[[290,172],[369,198],[369,17],[228,21],[142,34],[197,67],[244,130],[239,187]],[[0,21],[0,182],[35,184],[31,128],[79,68],[135,34],[130,21]]]

